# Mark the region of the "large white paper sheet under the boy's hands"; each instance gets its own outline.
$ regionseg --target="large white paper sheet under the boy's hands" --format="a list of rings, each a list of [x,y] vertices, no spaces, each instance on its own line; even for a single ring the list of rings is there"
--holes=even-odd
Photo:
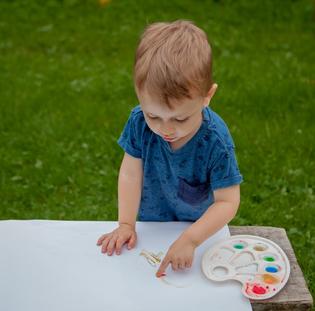
[[[111,221],[0,221],[1,311],[252,310],[235,281],[214,282],[201,268],[203,253],[229,236],[225,226],[196,249],[193,267],[156,278],[142,249],[163,252],[189,222],[137,222],[136,247],[101,253],[98,238]]]

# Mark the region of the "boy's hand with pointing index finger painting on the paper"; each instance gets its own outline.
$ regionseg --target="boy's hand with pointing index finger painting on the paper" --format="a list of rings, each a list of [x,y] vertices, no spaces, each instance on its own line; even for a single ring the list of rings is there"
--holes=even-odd
[[[173,270],[184,270],[193,265],[196,246],[184,241],[181,237],[171,245],[165,258],[163,259],[159,270],[156,272],[157,277],[161,277],[169,264]]]

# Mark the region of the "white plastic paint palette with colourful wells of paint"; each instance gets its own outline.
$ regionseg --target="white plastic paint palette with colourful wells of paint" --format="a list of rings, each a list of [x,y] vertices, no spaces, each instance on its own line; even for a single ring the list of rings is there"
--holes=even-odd
[[[202,257],[202,269],[210,280],[242,282],[243,294],[251,299],[271,298],[290,275],[289,260],[276,243],[248,235],[212,245]]]

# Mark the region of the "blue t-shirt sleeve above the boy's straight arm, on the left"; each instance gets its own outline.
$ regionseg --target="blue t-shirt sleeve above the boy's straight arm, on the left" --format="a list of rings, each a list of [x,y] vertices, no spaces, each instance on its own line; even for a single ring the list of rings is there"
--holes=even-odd
[[[139,124],[138,113],[135,109],[132,110],[122,135],[118,139],[118,144],[125,152],[132,155],[134,158],[141,158],[141,128],[137,127]],[[138,121],[138,122],[137,122]],[[141,122],[142,123],[142,122]]]

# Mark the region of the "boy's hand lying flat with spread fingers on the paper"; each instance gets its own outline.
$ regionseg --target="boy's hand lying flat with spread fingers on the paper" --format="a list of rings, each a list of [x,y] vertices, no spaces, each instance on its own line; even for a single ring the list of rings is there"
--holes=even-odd
[[[122,246],[127,244],[127,249],[134,248],[137,242],[137,234],[135,227],[130,224],[121,224],[117,229],[109,234],[103,235],[98,241],[97,245],[102,245],[102,253],[112,256],[114,248],[116,247],[116,255],[121,254]]]

